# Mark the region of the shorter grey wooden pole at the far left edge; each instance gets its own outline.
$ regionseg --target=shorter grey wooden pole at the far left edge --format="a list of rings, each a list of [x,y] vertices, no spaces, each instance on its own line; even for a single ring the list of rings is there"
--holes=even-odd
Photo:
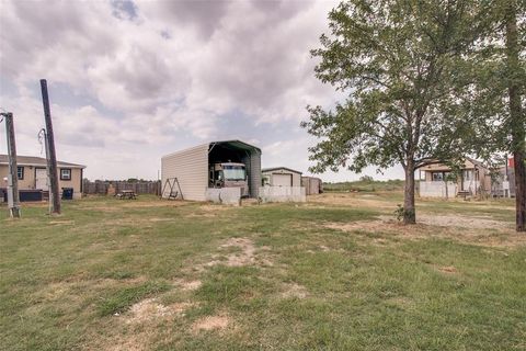
[[[20,218],[20,197],[19,197],[19,167],[16,165],[16,144],[14,141],[13,114],[11,112],[1,114],[5,120],[5,132],[8,135],[8,205],[9,214],[13,218]]]

